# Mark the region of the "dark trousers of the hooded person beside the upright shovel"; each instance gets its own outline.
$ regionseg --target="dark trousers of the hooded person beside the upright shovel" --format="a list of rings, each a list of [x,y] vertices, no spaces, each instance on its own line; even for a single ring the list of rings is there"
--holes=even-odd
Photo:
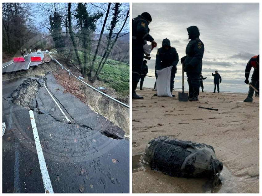
[[[200,81],[199,81],[199,74],[195,72],[186,72],[187,76],[187,82],[189,86],[189,96],[192,98],[194,96],[199,96],[199,87],[200,87]]]

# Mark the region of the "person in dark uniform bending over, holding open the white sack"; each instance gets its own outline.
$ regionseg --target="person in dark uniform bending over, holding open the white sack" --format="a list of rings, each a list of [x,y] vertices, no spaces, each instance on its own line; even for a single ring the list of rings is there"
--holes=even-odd
[[[171,94],[174,88],[174,78],[177,73],[178,61],[179,61],[179,58],[178,58],[178,53],[176,49],[171,47],[169,39],[167,38],[164,39],[162,41],[162,47],[158,49],[158,52],[156,55],[156,70],[160,70],[160,69],[164,69],[166,67],[172,66],[171,79],[170,79]],[[155,94],[154,96],[157,96],[157,94]]]

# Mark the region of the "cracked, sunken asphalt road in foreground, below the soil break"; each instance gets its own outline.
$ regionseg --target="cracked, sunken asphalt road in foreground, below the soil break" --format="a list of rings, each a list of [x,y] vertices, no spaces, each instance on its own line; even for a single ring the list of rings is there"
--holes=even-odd
[[[129,193],[125,132],[63,90],[52,74],[3,82],[3,193]]]

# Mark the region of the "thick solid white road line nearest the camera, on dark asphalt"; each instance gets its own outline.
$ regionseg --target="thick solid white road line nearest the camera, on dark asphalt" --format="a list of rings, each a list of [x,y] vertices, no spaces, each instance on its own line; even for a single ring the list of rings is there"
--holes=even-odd
[[[44,154],[43,154],[43,151],[42,151],[42,148],[41,148],[39,135],[38,135],[37,128],[36,128],[34,111],[30,110],[29,115],[30,115],[30,119],[31,119],[33,133],[34,133],[35,147],[36,147],[36,151],[37,151],[37,155],[38,155],[38,160],[39,160],[39,165],[40,165],[41,174],[42,174],[42,178],[43,178],[45,193],[47,192],[47,190],[49,191],[49,193],[54,193],[53,187],[52,187],[52,184],[51,184],[51,181],[50,181],[50,177],[49,177],[49,174],[48,174],[48,171],[47,171],[47,166],[46,166]]]

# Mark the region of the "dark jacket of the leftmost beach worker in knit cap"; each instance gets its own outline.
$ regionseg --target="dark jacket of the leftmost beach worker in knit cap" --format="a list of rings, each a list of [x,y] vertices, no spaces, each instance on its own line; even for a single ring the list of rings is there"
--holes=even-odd
[[[146,19],[139,15],[132,22],[133,45],[143,45],[144,40],[152,42],[154,38],[149,35],[149,28]]]

